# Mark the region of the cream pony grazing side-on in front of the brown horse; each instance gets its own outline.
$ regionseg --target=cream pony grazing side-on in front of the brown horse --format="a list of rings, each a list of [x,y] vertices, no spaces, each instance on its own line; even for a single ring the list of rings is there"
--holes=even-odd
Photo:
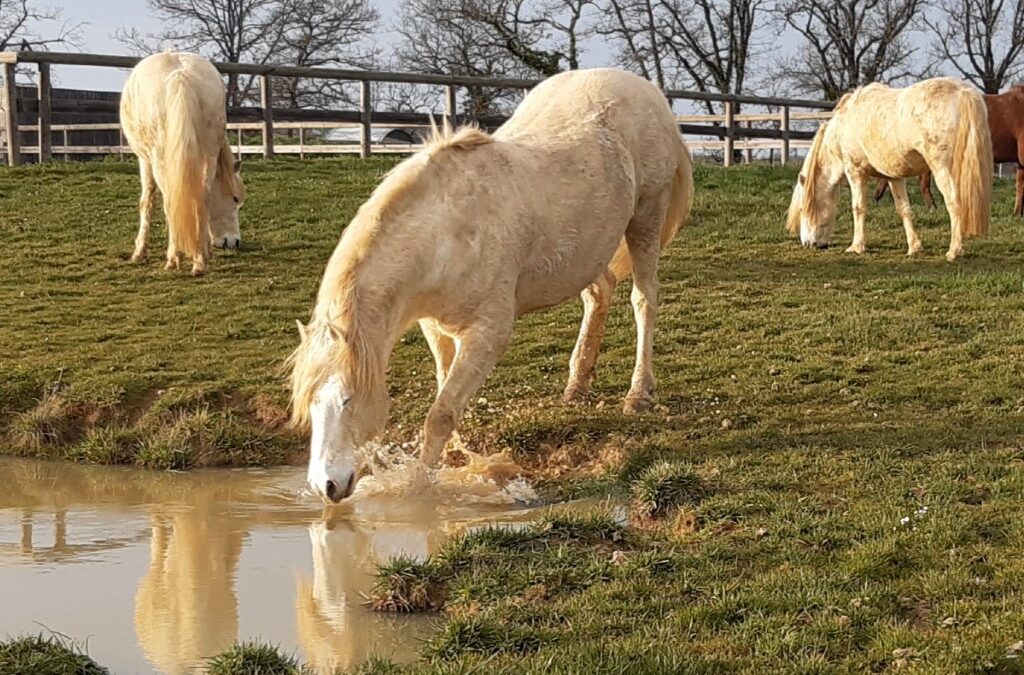
[[[788,228],[804,246],[827,247],[836,223],[839,183],[853,194],[853,244],[863,253],[867,182],[885,178],[906,230],[907,255],[922,250],[911,222],[905,178],[930,170],[949,210],[946,259],[964,252],[963,239],[988,231],[992,143],[981,94],[949,78],[905,89],[869,84],[843,96],[804,160],[790,204]]]

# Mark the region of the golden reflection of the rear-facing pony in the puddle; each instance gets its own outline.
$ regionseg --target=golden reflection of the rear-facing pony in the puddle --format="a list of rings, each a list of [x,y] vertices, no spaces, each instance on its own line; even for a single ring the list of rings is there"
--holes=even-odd
[[[236,569],[246,531],[223,503],[156,507],[150,568],[135,595],[135,631],[165,673],[193,672],[239,632]]]

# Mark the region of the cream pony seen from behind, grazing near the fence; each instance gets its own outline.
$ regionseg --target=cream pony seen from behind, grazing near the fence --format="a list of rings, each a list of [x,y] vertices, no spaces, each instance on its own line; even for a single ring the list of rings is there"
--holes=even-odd
[[[121,128],[138,157],[142,198],[132,260],[145,257],[159,186],[167,216],[167,268],[178,252],[206,271],[210,245],[239,248],[246,191],[227,143],[224,83],[198,54],[164,52],[139,61],[121,94]]]

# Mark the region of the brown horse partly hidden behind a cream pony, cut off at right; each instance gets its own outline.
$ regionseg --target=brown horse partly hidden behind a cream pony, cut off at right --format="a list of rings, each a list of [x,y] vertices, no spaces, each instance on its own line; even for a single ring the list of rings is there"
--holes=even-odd
[[[1024,216],[1024,86],[1012,87],[1001,94],[985,94],[988,109],[988,127],[992,134],[992,159],[996,164],[1013,162],[1017,165],[1017,199],[1014,215]],[[932,174],[928,171],[918,177],[921,194],[929,207],[932,199]],[[874,191],[878,202],[886,194],[889,182],[879,181]]]

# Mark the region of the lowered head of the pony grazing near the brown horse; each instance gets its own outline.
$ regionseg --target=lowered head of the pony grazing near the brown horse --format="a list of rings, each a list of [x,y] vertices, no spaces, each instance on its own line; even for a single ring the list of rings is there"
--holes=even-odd
[[[811,150],[804,158],[804,165],[793,188],[786,218],[790,234],[799,234],[803,246],[819,249],[826,249],[831,245],[839,186],[835,168],[827,163],[827,153],[822,146],[824,128],[825,125],[822,125],[815,134]]]

